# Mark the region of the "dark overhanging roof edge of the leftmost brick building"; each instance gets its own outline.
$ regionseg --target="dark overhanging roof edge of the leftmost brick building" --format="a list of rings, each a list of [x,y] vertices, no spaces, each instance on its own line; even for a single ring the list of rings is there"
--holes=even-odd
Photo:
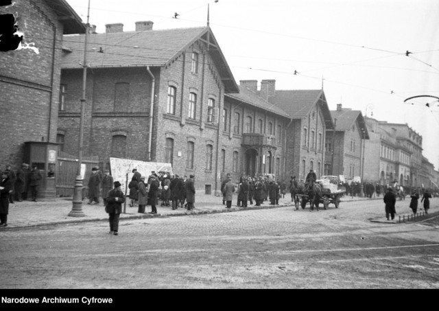
[[[64,34],[84,34],[85,25],[66,0],[45,0],[64,25]]]

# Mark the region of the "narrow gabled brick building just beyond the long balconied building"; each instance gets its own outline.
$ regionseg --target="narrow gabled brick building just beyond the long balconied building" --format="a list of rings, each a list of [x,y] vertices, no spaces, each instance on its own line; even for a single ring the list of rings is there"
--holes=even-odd
[[[370,181],[363,164],[370,159],[370,150],[365,148],[369,131],[361,111],[342,108],[342,104],[337,104],[337,110],[331,111],[331,117],[335,125],[333,130],[327,130],[325,174],[344,175],[348,179],[360,176],[362,180]],[[368,157],[364,150],[367,150]]]

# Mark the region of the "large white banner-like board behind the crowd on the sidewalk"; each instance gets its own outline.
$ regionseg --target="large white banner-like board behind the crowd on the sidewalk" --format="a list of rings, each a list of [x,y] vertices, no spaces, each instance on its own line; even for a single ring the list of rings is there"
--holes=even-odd
[[[142,176],[150,176],[151,172],[154,171],[158,175],[158,172],[168,172],[172,173],[172,165],[171,163],[159,163],[159,162],[145,162],[145,161],[137,161],[130,159],[119,159],[119,158],[110,158],[110,167],[111,167],[111,176],[114,181],[119,181],[121,183],[121,190],[125,193],[125,186],[127,182],[127,174],[128,174],[128,183],[130,183],[132,176],[132,170],[134,168],[137,169]],[[145,180],[147,182],[147,179]]]

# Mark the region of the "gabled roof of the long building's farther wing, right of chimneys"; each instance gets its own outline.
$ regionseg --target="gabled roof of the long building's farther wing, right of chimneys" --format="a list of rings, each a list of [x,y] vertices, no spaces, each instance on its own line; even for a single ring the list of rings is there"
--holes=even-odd
[[[274,96],[270,96],[269,101],[293,119],[306,117],[311,112],[311,108],[320,102],[326,128],[327,130],[333,129],[331,113],[323,90],[276,90]]]

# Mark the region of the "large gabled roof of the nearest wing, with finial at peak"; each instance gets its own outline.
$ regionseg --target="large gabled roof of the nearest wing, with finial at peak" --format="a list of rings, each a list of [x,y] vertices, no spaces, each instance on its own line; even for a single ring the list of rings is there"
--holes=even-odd
[[[163,67],[177,60],[195,41],[207,41],[209,53],[226,92],[238,91],[235,78],[213,36],[210,27],[178,28],[171,30],[146,30],[140,32],[112,32],[89,34],[87,65],[92,68]],[[62,69],[82,68],[85,35],[64,36]],[[69,52],[71,50],[71,52]],[[100,52],[102,51],[102,52]]]

